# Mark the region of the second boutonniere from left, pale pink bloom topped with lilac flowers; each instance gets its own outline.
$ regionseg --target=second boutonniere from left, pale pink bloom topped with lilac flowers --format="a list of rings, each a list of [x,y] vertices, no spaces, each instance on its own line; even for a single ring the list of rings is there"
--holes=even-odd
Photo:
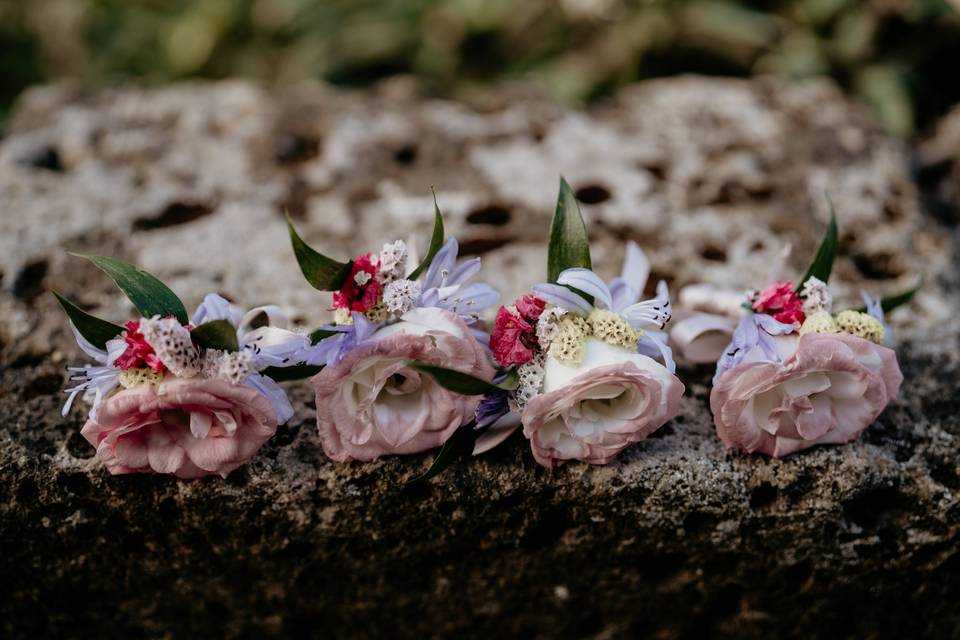
[[[290,224],[307,281],[333,292],[334,324],[315,332],[305,362],[319,368],[317,426],[337,462],[375,460],[439,447],[472,420],[480,398],[444,387],[418,366],[494,375],[479,322],[499,294],[473,282],[480,258],[458,261],[444,240],[434,197],[434,229],[422,261],[401,240],[338,262],[310,248]]]

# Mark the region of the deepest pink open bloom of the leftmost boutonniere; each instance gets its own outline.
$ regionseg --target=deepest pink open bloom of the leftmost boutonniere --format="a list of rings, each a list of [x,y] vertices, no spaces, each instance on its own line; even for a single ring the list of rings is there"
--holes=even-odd
[[[80,433],[113,474],[225,478],[276,430],[273,407],[254,389],[170,378],[111,396]]]

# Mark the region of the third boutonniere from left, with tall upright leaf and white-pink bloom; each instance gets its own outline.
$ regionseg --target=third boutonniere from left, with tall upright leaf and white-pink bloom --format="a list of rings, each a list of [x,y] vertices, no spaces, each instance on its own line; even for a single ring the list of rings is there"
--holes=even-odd
[[[606,464],[674,417],[684,387],[664,333],[670,299],[661,282],[655,298],[640,301],[648,275],[633,243],[619,277],[605,282],[593,272],[579,205],[561,179],[547,282],[497,312],[494,383],[432,371],[443,384],[484,394],[475,423],[449,448],[481,453],[522,426],[543,466]],[[441,452],[431,473],[452,457]]]

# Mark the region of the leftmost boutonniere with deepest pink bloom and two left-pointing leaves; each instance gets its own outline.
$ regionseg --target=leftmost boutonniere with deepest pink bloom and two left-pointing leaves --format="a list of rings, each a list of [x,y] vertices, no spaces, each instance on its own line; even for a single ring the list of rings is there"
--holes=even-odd
[[[96,364],[71,367],[66,415],[90,404],[81,434],[110,473],[226,477],[293,415],[268,375],[308,344],[275,306],[242,313],[209,294],[190,318],[154,276],[123,261],[89,259],[130,299],[140,318],[123,326],[54,292],[81,350]]]

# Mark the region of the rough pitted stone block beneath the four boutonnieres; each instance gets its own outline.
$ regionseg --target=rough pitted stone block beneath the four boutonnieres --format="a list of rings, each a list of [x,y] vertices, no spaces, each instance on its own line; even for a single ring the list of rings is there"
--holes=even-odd
[[[326,460],[302,385],[226,481],[110,477],[81,411],[59,415],[80,353],[45,290],[128,313],[64,249],[313,325],[329,300],[282,211],[347,257],[425,235],[436,185],[512,296],[543,270],[561,172],[598,270],[633,238],[673,286],[754,285],[787,242],[802,268],[829,190],[841,295],[927,274],[894,317],[901,398],[858,443],[767,460],[723,449],[710,371],[685,370],[678,418],[608,467],[550,472],[514,437],[414,486],[429,456]],[[522,91],[476,113],[405,80],[32,90],[0,141],[0,635],[956,636],[957,232],[921,202],[907,146],[822,82],[663,80],[588,113]]]

